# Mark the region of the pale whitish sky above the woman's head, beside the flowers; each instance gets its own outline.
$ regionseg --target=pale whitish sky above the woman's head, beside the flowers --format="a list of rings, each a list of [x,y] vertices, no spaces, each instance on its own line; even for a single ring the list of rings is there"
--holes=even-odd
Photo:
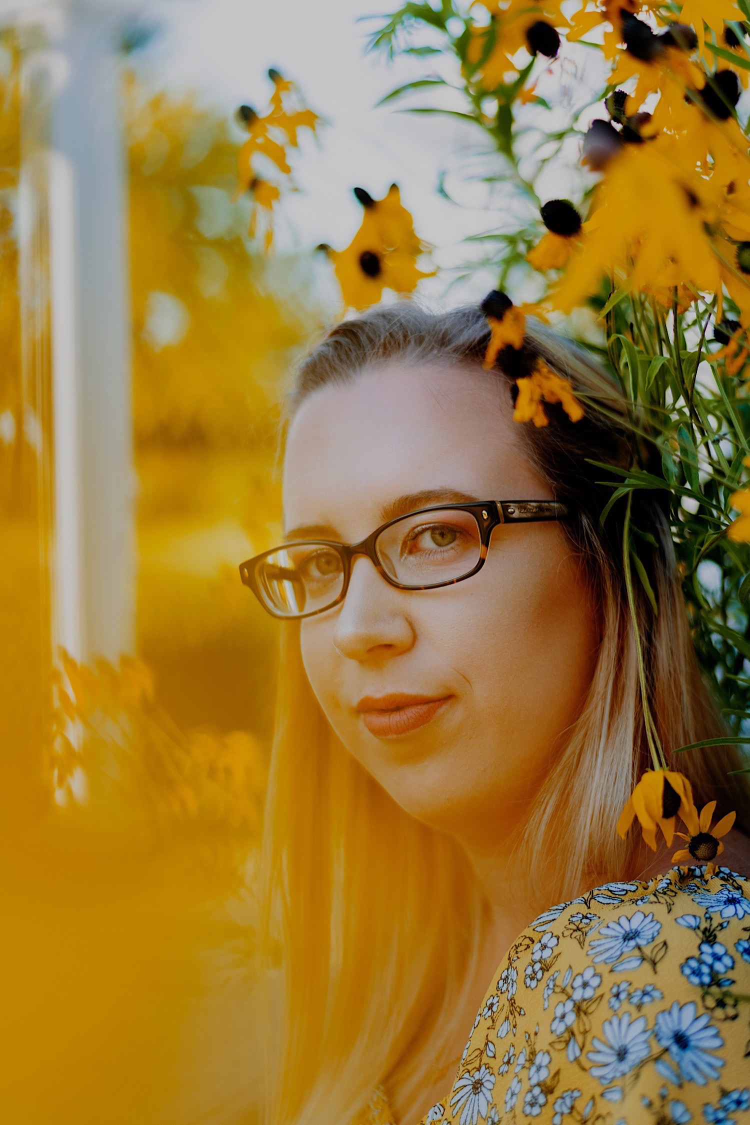
[[[396,8],[397,0],[152,0],[148,17],[161,21],[161,30],[141,65],[155,81],[198,90],[227,112],[242,102],[262,111],[271,91],[269,66],[292,78],[329,124],[317,142],[309,135],[302,141],[296,160],[300,192],[283,201],[280,246],[326,242],[342,249],[361,220],[352,188],[380,198],[396,181],[443,271],[421,291],[442,299],[454,277],[450,268],[471,254],[462,240],[496,227],[503,206],[501,199],[488,206],[487,187],[469,179],[488,166],[480,129],[449,116],[399,111],[408,104],[440,105],[434,91],[376,108],[396,87],[434,72],[430,58],[388,61],[367,53],[368,33],[379,21],[363,17]],[[445,94],[442,105],[452,99],[462,108],[458,92]],[[455,201],[435,190],[443,170]],[[493,285],[493,273],[479,270],[449,299],[481,299]]]

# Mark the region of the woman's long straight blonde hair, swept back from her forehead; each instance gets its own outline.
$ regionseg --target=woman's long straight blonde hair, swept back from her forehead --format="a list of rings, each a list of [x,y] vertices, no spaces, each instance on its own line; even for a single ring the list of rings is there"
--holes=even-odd
[[[373,364],[477,369],[488,338],[478,308],[376,307],[336,325],[302,360],[287,420],[316,389],[350,382]],[[530,888],[541,885],[544,866],[548,894],[555,857],[553,894],[563,900],[629,871],[635,834],[623,842],[614,825],[650,765],[623,578],[624,504],[602,525],[612,489],[596,483],[606,472],[589,464],[627,467],[633,438],[622,393],[588,354],[536,324],[527,326],[526,348],[570,379],[586,403],[576,424],[559,407],[545,407],[550,424],[524,432],[532,461],[576,513],[567,533],[602,622],[590,690],[517,848]],[[508,356],[501,357],[506,368]],[[487,378],[512,393],[513,374],[495,370]],[[648,457],[648,444],[641,456]],[[720,737],[726,729],[693,648],[663,496],[636,494],[632,518],[656,542],[639,541],[639,555],[658,614],[640,583],[635,598],[659,736],[667,748]],[[347,1125],[378,1083],[397,1080],[417,1090],[424,1082],[408,1058],[419,1055],[415,1047],[436,1036],[435,1028],[450,1025],[462,1001],[481,907],[460,847],[404,812],[333,735],[302,669],[298,626],[280,629],[263,866],[266,947],[282,965],[286,1014],[270,1118],[274,1125]],[[680,754],[674,767],[690,778],[698,801],[735,808],[747,825],[743,778],[726,773],[737,764],[728,747]],[[440,1051],[437,1037],[431,1042]]]

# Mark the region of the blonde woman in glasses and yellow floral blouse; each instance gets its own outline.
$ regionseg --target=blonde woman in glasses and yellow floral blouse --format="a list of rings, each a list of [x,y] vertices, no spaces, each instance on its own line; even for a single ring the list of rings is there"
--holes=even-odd
[[[489,343],[479,308],[401,302],[334,327],[288,403],[290,546],[241,567],[265,609],[288,619],[265,839],[286,998],[271,1119],[687,1122],[704,1104],[726,1117],[746,1097],[735,1079],[748,1011],[714,1034],[717,1004],[730,1004],[717,982],[750,992],[750,901],[722,872],[706,880],[696,867],[687,882],[676,868],[660,881],[674,848],[651,861],[635,831],[615,832],[650,765],[626,505],[600,521],[612,488],[595,464],[632,464],[625,404],[588,357],[540,326],[485,370]],[[537,403],[537,424],[518,424],[514,395],[526,387],[516,380],[540,363],[562,405]],[[627,518],[659,606],[654,615],[636,582],[657,737],[670,749],[721,735],[659,494],[636,495]],[[747,830],[744,778],[728,774],[738,767],[731,749],[671,765],[697,809],[715,800]],[[739,830],[726,862],[750,872]],[[612,881],[598,902],[549,909]],[[706,934],[716,952],[719,930],[675,924],[699,915],[711,925],[699,892],[714,906],[730,896],[725,930],[740,943],[723,969],[714,957],[715,972],[693,971],[708,972],[703,986],[680,964]],[[667,970],[669,988],[654,991]],[[658,1034],[641,1014],[657,991]],[[711,1059],[719,1038],[729,1052],[706,1063],[708,1086],[669,1053],[688,1016]]]

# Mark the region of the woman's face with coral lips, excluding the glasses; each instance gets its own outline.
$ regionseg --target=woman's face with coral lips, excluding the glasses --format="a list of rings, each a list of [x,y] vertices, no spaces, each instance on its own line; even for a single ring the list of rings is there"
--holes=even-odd
[[[302,403],[283,496],[288,539],[350,543],[443,500],[553,498],[496,377],[395,363]],[[358,556],[344,602],[300,622],[344,747],[407,812],[490,848],[525,818],[581,709],[596,634],[558,523],[495,528],[481,570],[430,591],[397,590]]]

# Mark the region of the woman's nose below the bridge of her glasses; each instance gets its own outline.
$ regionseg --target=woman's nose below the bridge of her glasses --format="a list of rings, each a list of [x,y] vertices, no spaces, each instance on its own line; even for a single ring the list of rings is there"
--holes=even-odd
[[[408,652],[416,640],[404,612],[404,591],[390,586],[363,556],[352,574],[333,632],[334,648],[350,660],[377,660]]]

